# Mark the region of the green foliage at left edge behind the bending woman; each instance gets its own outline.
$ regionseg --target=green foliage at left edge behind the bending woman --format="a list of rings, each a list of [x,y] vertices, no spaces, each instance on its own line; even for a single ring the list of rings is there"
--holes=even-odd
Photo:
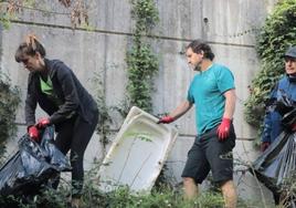
[[[0,156],[6,150],[6,142],[14,135],[17,108],[20,103],[20,92],[11,86],[10,80],[0,71]]]

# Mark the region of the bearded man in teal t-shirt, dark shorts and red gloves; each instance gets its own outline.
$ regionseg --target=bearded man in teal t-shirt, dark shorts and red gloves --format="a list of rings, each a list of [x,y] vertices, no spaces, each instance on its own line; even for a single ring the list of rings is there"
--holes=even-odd
[[[159,123],[171,123],[186,114],[194,104],[198,136],[188,152],[182,173],[184,197],[193,199],[201,184],[212,170],[213,180],[221,187],[225,207],[236,207],[237,195],[233,183],[232,149],[235,133],[232,118],[235,108],[234,77],[223,65],[213,63],[211,48],[192,41],[186,51],[188,63],[199,71],[190,84],[188,96]]]

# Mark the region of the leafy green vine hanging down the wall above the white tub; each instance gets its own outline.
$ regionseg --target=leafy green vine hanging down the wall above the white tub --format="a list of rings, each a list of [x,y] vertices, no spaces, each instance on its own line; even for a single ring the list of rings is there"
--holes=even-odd
[[[151,112],[152,77],[158,72],[158,59],[147,35],[158,23],[158,10],[154,0],[131,0],[131,18],[135,20],[133,45],[127,51],[127,94],[130,106]]]

